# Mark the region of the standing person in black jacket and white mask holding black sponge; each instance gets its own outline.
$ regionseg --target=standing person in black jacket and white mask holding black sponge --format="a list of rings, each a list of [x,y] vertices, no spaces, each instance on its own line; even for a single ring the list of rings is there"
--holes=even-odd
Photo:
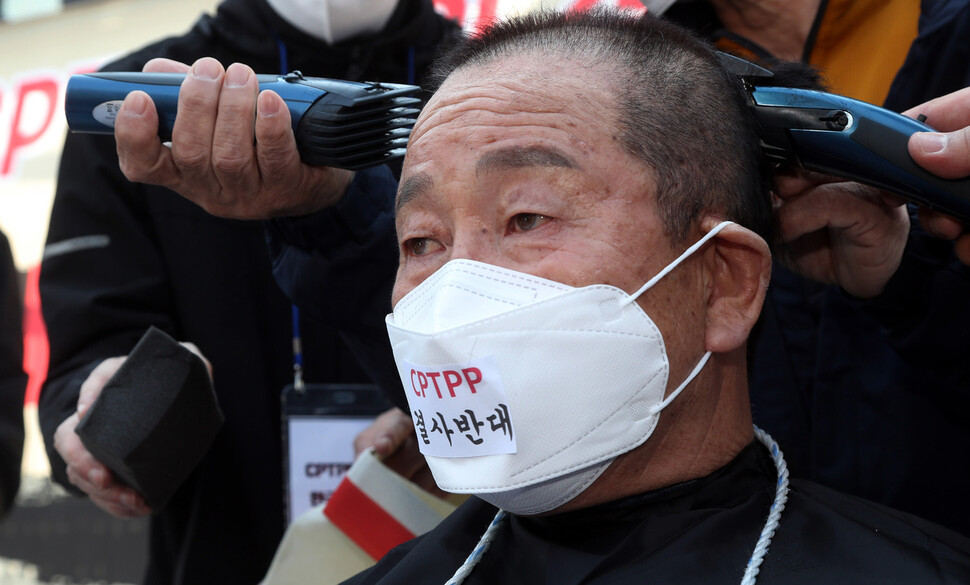
[[[312,9],[288,0],[226,0],[186,34],[105,69],[211,56],[187,84],[218,79],[221,87],[223,68],[236,61],[260,73],[420,83],[437,47],[457,34],[430,0],[335,0]],[[229,67],[226,87],[234,87],[236,71]],[[290,188],[294,178],[276,187]],[[307,381],[372,379],[348,331],[383,331],[393,255],[383,268],[360,259],[379,257],[375,250],[385,246],[393,254],[391,212],[371,195],[385,184],[395,184],[387,168],[358,173],[355,195],[321,220],[333,238],[322,253],[333,294],[325,314],[302,318]],[[372,231],[389,235],[362,244]],[[360,288],[339,286],[348,275]],[[262,579],[285,527],[280,393],[294,364],[292,306],[274,281],[263,226],[217,219],[168,189],[132,183],[119,170],[111,137],[70,134],[40,292],[50,371],[39,414],[54,478],[114,515],[152,514],[146,584]],[[369,325],[356,318],[367,303],[378,315]],[[211,362],[225,416],[211,450],[161,510],[118,483],[74,433],[78,410],[89,406],[79,404],[82,387],[96,395],[121,362],[112,358],[128,354],[151,325],[195,344]]]

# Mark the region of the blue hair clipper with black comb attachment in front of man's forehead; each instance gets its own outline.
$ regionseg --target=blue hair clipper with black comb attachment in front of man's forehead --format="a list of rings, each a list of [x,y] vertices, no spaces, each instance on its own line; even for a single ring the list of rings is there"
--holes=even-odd
[[[304,77],[299,71],[257,78],[260,90],[272,89],[286,102],[303,162],[359,170],[404,156],[421,88]],[[64,104],[68,127],[112,134],[125,96],[142,90],[155,102],[159,136],[169,140],[183,79],[181,73],[72,75]]]

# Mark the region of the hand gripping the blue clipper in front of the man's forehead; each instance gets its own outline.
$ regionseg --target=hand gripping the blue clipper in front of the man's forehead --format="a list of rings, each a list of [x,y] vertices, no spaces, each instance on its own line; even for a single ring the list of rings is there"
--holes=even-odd
[[[352,181],[364,181],[362,188],[374,193],[382,192],[374,181],[393,182],[384,167],[368,169],[365,176],[344,167],[357,169],[393,160],[400,151],[390,151],[400,145],[376,148],[370,152],[379,160],[362,164],[356,164],[359,160],[327,161],[342,167],[304,162],[304,154],[311,153],[305,148],[301,153],[300,145],[307,142],[298,138],[300,130],[294,132],[293,126],[307,116],[291,113],[292,98],[260,91],[260,76],[242,63],[224,69],[211,57],[191,65],[152,59],[144,71],[177,73],[184,79],[177,88],[179,111],[174,125],[162,119],[162,112],[170,108],[157,108],[147,92],[129,88],[127,97],[119,96],[124,101],[114,114],[114,139],[121,173],[129,181],[166,187],[212,215],[242,220],[307,215],[341,201]],[[172,89],[168,91],[174,93]],[[416,108],[405,104],[405,109]],[[392,120],[414,115],[394,114]],[[166,127],[173,134],[170,144],[159,139]]]

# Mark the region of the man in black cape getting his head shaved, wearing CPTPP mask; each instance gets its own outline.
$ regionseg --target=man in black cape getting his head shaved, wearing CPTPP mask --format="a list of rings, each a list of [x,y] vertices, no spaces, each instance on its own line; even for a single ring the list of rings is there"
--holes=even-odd
[[[769,198],[709,49],[651,17],[542,16],[442,71],[387,322],[435,479],[479,497],[351,582],[970,579],[970,541],[789,486],[753,430]]]

